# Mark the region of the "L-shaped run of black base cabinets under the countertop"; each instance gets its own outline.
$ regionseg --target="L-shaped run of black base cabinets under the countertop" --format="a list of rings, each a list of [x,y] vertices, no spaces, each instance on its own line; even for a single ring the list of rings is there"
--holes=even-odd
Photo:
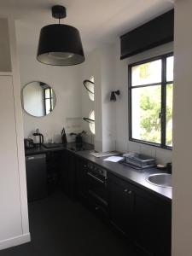
[[[28,196],[30,189],[32,193],[40,189],[35,199],[45,196],[48,176],[49,191],[59,184],[70,199],[83,202],[140,247],[142,253],[138,255],[171,256],[172,201],[167,197],[119,177],[72,150],[50,150],[39,161],[38,166],[30,168],[34,172],[26,170]],[[44,167],[39,167],[43,162]],[[26,167],[31,164],[27,162]],[[39,186],[40,181],[43,183]]]

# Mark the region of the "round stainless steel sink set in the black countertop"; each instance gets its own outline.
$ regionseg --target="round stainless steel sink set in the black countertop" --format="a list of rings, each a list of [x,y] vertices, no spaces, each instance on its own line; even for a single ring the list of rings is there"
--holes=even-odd
[[[172,174],[168,173],[156,173],[146,177],[148,183],[156,186],[172,188]]]

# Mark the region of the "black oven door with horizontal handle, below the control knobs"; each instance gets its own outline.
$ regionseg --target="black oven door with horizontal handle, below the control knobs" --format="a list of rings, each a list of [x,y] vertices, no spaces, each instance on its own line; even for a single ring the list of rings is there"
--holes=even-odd
[[[107,180],[102,175],[95,172],[91,172],[88,169],[87,172],[87,186],[88,195],[92,202],[95,202],[96,206],[106,208],[108,207],[108,193],[107,193]]]

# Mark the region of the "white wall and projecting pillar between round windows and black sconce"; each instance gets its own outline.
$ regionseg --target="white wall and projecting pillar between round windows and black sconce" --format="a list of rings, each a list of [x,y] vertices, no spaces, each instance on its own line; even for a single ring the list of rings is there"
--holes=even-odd
[[[113,113],[115,108],[113,102],[110,102],[110,93],[114,86],[114,61],[113,45],[103,44],[100,49],[95,49],[86,57],[86,61],[81,67],[82,80],[90,75],[94,75],[95,78],[95,101],[90,102],[83,90],[82,113],[87,116],[91,108],[95,110],[95,148],[97,151],[114,149],[115,120]],[[88,125],[85,126],[85,129],[89,132]]]

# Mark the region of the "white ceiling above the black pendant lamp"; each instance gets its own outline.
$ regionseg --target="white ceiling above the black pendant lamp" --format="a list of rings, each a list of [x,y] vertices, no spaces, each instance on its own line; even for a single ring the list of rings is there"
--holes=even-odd
[[[79,29],[86,52],[173,8],[173,0],[1,0],[0,16],[40,29],[56,22],[50,12],[55,4],[66,6],[61,22]]]

